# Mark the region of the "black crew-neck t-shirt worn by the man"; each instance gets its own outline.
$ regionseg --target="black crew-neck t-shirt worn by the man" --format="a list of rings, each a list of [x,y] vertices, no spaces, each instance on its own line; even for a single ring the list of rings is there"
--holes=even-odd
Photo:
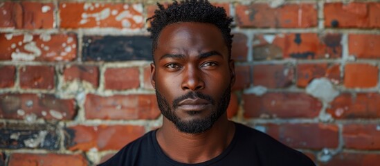
[[[129,143],[101,166],[118,165],[302,165],[314,163],[304,154],[291,149],[271,136],[235,123],[235,135],[230,145],[211,160],[184,164],[166,156],[156,139],[156,130]]]

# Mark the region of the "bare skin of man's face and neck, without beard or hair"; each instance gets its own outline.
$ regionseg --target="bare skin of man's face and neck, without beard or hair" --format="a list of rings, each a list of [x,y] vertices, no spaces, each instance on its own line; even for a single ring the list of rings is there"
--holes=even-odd
[[[220,30],[205,23],[170,24],[161,31],[151,64],[152,85],[172,105],[189,91],[199,91],[219,101],[223,91],[235,82],[235,66]],[[183,104],[174,113],[184,121],[206,118],[209,103]],[[190,113],[193,111],[193,113]],[[194,113],[194,111],[196,113]],[[224,113],[202,133],[183,133],[163,118],[156,138],[161,149],[180,163],[201,163],[221,154],[230,144],[235,126]]]

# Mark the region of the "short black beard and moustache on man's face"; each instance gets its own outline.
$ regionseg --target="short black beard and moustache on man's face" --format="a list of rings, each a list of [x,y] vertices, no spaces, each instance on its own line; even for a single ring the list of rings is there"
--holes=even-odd
[[[159,109],[161,110],[161,113],[165,118],[168,118],[168,120],[172,121],[177,129],[183,133],[203,133],[204,131],[207,131],[208,129],[211,129],[212,125],[219,119],[221,115],[223,115],[228,107],[228,104],[230,102],[230,93],[231,88],[228,86],[226,90],[224,90],[224,93],[221,95],[221,99],[219,102],[215,103],[215,100],[213,100],[210,95],[205,95],[203,93],[190,91],[189,93],[186,93],[185,95],[182,95],[179,98],[176,98],[173,100],[173,105],[170,107],[170,104],[168,100],[165,99],[161,93],[159,93],[159,90],[156,88],[156,98],[157,103],[159,104]],[[175,109],[178,107],[178,103],[181,102],[184,99],[187,98],[201,98],[203,100],[208,100],[212,104],[212,111],[210,113],[210,116],[203,119],[195,119],[190,121],[183,121],[181,120],[175,113]],[[190,111],[190,115],[196,114],[197,111]]]

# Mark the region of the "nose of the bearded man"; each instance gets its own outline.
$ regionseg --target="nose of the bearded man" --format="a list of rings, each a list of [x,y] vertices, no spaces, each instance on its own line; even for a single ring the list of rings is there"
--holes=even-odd
[[[194,66],[188,66],[185,71],[183,71],[183,81],[181,84],[181,89],[183,91],[191,90],[197,91],[203,89],[205,86],[202,77],[201,71],[199,68]]]

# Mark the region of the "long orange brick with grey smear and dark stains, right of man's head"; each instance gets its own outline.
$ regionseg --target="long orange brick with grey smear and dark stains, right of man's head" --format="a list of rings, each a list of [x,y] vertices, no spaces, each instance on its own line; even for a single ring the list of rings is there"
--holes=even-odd
[[[341,35],[315,33],[289,33],[255,35],[253,59],[325,59],[342,55]]]

